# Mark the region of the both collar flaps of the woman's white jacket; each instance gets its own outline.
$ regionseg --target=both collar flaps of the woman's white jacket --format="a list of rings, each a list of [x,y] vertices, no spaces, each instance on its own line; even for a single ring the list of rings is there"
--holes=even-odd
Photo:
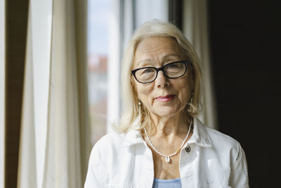
[[[206,125],[203,125],[201,121],[194,118],[194,127],[192,137],[185,144],[197,144],[199,146],[211,147],[211,139],[206,130]],[[132,146],[135,144],[145,144],[140,130],[129,130],[125,134],[124,142],[122,146]]]

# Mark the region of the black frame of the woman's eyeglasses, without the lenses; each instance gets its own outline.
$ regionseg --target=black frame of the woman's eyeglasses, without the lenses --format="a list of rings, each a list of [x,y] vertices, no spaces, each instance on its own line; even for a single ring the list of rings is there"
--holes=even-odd
[[[166,73],[165,73],[165,71],[164,71],[164,68],[166,68],[166,66],[171,65],[171,64],[173,64],[173,63],[183,63],[183,64],[185,64],[185,72],[183,73],[183,75],[185,75],[186,71],[188,70],[188,65],[190,64],[189,61],[185,60],[185,61],[175,61],[175,62],[171,62],[171,63],[168,63],[168,64],[166,64],[166,65],[164,65],[164,66],[162,66],[162,67],[160,67],[160,68],[155,68],[155,67],[136,68],[136,69],[134,69],[134,70],[131,70],[131,75],[133,75],[133,77],[135,77],[136,81],[138,81],[138,79],[136,78],[136,71],[141,70],[141,69],[145,69],[145,68],[153,68],[153,69],[156,70],[156,76],[155,76],[155,79],[151,80],[150,82],[154,82],[154,81],[156,80],[156,78],[157,78],[157,76],[158,76],[159,70],[162,70],[162,72],[163,72],[163,74],[165,75],[165,77],[168,77],[169,79],[175,79],[175,78],[178,78],[178,77],[182,77],[183,75],[178,76],[178,77],[169,77],[168,75],[166,75]],[[138,82],[140,82],[140,81],[138,81]],[[148,83],[150,83],[150,82],[140,82],[140,83],[141,83],[141,84],[148,84]]]

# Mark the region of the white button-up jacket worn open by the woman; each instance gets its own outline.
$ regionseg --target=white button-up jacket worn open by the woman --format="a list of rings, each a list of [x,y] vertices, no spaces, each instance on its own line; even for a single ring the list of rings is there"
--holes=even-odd
[[[185,147],[190,146],[190,152]],[[235,139],[195,119],[192,137],[180,153],[182,187],[249,187],[244,151]],[[112,132],[93,146],[85,188],[152,187],[152,151],[141,133]]]

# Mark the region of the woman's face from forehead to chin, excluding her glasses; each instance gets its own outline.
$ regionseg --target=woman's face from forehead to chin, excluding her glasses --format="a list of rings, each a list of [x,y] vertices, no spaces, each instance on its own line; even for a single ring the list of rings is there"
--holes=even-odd
[[[137,46],[133,69],[152,66],[160,68],[167,63],[187,60],[181,47],[172,37],[148,37]],[[142,84],[134,79],[138,99],[153,115],[170,118],[185,108],[190,100],[193,80],[190,66],[182,77],[169,79],[162,71],[155,81]]]

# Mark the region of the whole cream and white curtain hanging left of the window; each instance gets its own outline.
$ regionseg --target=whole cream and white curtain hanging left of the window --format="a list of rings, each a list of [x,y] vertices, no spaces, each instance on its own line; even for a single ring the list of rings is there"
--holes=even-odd
[[[91,149],[84,8],[30,1],[18,187],[83,187]]]

